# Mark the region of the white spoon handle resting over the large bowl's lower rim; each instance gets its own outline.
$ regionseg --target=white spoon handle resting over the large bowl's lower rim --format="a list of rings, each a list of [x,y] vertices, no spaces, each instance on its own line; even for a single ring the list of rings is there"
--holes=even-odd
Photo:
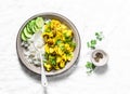
[[[42,63],[42,54],[40,53],[40,59],[41,59],[41,84],[42,86],[48,86],[48,81],[43,68],[43,63]]]

